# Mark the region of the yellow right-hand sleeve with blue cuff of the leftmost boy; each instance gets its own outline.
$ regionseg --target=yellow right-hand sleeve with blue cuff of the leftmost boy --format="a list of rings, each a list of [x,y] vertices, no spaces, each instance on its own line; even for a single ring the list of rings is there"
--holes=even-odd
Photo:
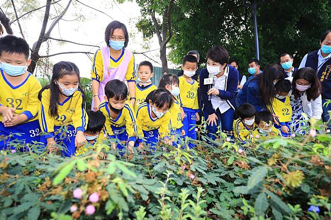
[[[31,76],[30,76],[31,77]],[[40,105],[40,101],[38,99],[38,93],[41,90],[41,85],[37,79],[31,81],[33,85],[30,85],[28,95],[28,104],[26,110],[24,110],[21,114],[25,114],[28,117],[28,120],[35,117],[38,113],[38,108]]]

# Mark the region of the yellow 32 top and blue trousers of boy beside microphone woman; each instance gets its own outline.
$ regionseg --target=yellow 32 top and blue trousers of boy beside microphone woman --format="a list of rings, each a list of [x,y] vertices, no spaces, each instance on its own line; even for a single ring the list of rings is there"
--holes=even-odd
[[[179,78],[179,89],[180,93],[178,95],[181,107],[185,112],[185,118],[183,119],[183,127],[185,130],[185,136],[188,136],[192,139],[196,139],[196,112],[199,112],[198,106],[198,83],[192,79],[192,83],[186,81],[186,78],[183,76]],[[189,147],[192,148],[194,145],[189,144]]]

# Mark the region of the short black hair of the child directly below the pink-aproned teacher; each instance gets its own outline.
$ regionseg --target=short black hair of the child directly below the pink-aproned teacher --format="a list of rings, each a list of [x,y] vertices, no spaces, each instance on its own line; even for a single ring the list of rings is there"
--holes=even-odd
[[[127,98],[127,86],[119,79],[112,79],[104,87],[104,93],[107,99],[114,98],[116,101],[122,101]]]

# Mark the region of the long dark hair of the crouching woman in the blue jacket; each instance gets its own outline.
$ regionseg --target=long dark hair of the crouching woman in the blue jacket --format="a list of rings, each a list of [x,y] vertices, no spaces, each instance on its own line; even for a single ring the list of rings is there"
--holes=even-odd
[[[259,89],[261,98],[266,105],[270,105],[273,97],[276,94],[276,91],[273,86],[273,81],[275,79],[283,78],[283,69],[278,64],[268,65],[263,73],[256,76],[260,81]]]

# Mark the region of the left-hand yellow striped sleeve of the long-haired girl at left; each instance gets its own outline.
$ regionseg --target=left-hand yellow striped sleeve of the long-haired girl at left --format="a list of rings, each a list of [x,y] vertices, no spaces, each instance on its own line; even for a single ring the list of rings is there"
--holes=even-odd
[[[50,93],[49,90],[44,90],[42,93],[40,108],[39,108],[39,124],[41,130],[45,133],[46,138],[54,136],[54,117],[49,114]]]

